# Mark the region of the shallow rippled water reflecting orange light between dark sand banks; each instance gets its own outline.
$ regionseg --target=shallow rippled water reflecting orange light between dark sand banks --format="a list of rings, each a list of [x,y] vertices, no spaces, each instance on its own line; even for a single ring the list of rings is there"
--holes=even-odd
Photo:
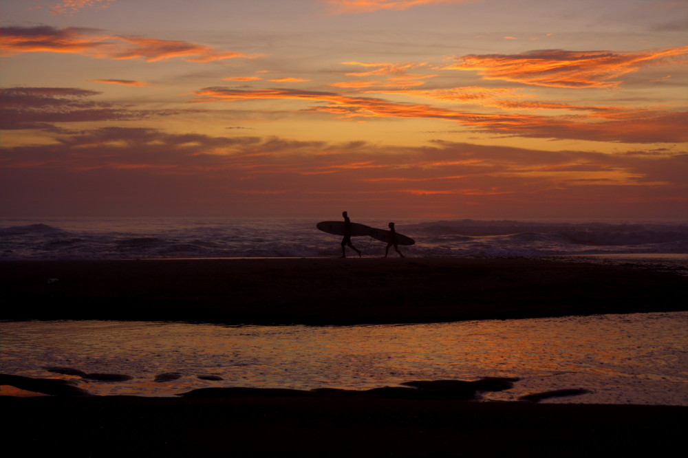
[[[208,386],[369,389],[508,376],[521,380],[486,400],[583,388],[592,393],[546,402],[685,406],[687,322],[688,312],[352,327],[0,322],[0,372],[72,378],[99,395],[153,396]],[[45,367],[134,379],[85,382]],[[181,377],[153,382],[160,373]]]

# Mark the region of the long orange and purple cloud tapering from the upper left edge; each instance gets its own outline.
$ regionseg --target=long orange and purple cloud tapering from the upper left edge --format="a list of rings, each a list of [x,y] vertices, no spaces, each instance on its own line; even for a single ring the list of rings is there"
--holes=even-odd
[[[97,34],[87,28],[57,29],[42,25],[0,29],[0,50],[11,55],[22,52],[63,52],[96,58],[135,59],[147,62],[185,58],[191,62],[213,62],[229,58],[255,58],[259,54],[222,52],[187,41],[160,40],[147,36]]]

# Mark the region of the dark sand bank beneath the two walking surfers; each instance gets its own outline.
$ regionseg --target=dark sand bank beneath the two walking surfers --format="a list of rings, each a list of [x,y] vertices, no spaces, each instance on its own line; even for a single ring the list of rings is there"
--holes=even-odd
[[[688,277],[539,259],[0,261],[0,288],[3,319],[422,323],[685,310]]]

